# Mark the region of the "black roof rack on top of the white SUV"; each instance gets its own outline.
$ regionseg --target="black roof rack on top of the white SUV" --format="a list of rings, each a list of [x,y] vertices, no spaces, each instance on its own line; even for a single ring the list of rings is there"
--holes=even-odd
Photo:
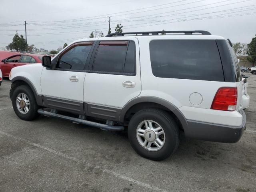
[[[142,35],[159,35],[161,33],[184,33],[184,35],[193,35],[193,33],[201,33],[202,35],[211,35],[208,31],[147,31],[147,32],[127,32],[127,33],[110,33],[106,37],[124,36],[129,34],[142,34]]]

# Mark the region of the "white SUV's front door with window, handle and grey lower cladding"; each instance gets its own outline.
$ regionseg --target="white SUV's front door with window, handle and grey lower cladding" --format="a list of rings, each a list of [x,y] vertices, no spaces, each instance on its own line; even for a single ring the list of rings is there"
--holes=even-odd
[[[66,48],[59,56],[56,67],[44,68],[41,88],[44,106],[84,114],[83,95],[87,58],[93,42],[80,42]]]

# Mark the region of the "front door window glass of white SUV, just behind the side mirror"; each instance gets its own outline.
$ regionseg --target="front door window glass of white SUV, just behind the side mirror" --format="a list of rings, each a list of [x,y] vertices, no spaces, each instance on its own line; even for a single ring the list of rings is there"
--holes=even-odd
[[[57,68],[83,70],[91,47],[91,45],[82,45],[68,50],[61,56]]]

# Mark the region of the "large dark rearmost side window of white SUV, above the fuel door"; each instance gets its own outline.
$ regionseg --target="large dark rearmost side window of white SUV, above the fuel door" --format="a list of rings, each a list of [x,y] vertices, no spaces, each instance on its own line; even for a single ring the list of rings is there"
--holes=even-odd
[[[156,77],[224,81],[215,40],[153,40],[150,60]]]

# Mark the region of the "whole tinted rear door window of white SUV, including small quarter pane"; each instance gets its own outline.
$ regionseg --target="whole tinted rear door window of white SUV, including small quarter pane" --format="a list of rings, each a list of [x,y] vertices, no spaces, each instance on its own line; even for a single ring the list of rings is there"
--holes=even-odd
[[[133,41],[100,42],[92,70],[109,73],[135,73],[136,54]]]

